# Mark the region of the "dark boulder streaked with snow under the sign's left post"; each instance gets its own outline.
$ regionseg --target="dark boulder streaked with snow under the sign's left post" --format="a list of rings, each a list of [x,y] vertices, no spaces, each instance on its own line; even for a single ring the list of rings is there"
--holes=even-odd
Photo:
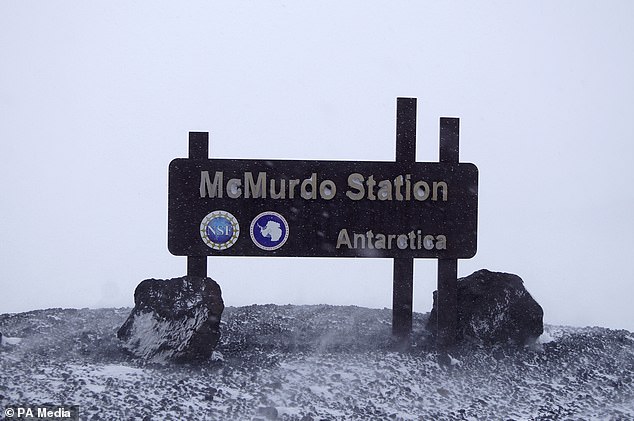
[[[220,286],[213,279],[146,279],[134,291],[134,304],[117,332],[134,355],[153,361],[211,356],[224,310]]]

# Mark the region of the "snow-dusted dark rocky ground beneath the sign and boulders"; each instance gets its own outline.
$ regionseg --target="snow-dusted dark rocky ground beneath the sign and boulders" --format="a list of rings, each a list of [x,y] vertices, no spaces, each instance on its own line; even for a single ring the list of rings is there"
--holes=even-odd
[[[627,331],[547,326],[540,346],[465,347],[444,367],[425,315],[403,351],[390,310],[250,306],[225,310],[214,361],[148,365],[116,339],[129,312],[0,315],[0,409],[80,405],[82,420],[634,419]]]

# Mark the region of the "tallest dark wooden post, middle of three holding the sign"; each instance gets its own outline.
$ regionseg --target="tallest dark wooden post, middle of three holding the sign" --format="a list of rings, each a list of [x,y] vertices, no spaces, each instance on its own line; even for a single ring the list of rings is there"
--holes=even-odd
[[[416,162],[416,98],[396,100],[396,162]],[[392,334],[406,339],[412,332],[414,259],[396,258],[393,263]]]

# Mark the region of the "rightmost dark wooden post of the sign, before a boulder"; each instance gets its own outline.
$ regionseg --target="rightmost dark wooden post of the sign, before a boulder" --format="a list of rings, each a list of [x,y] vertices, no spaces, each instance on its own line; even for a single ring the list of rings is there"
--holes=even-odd
[[[440,162],[458,163],[460,119],[440,119]],[[447,349],[456,342],[458,326],[458,259],[438,259],[437,344]]]

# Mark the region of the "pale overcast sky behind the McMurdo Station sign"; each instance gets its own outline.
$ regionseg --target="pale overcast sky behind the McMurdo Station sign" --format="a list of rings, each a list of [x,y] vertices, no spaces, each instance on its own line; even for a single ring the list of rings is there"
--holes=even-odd
[[[167,250],[167,169],[219,158],[419,161],[460,117],[480,268],[545,321],[634,330],[634,2],[0,1],[0,313],[132,306]],[[389,259],[210,258],[226,305],[391,307]],[[415,265],[431,308],[436,262]]]

